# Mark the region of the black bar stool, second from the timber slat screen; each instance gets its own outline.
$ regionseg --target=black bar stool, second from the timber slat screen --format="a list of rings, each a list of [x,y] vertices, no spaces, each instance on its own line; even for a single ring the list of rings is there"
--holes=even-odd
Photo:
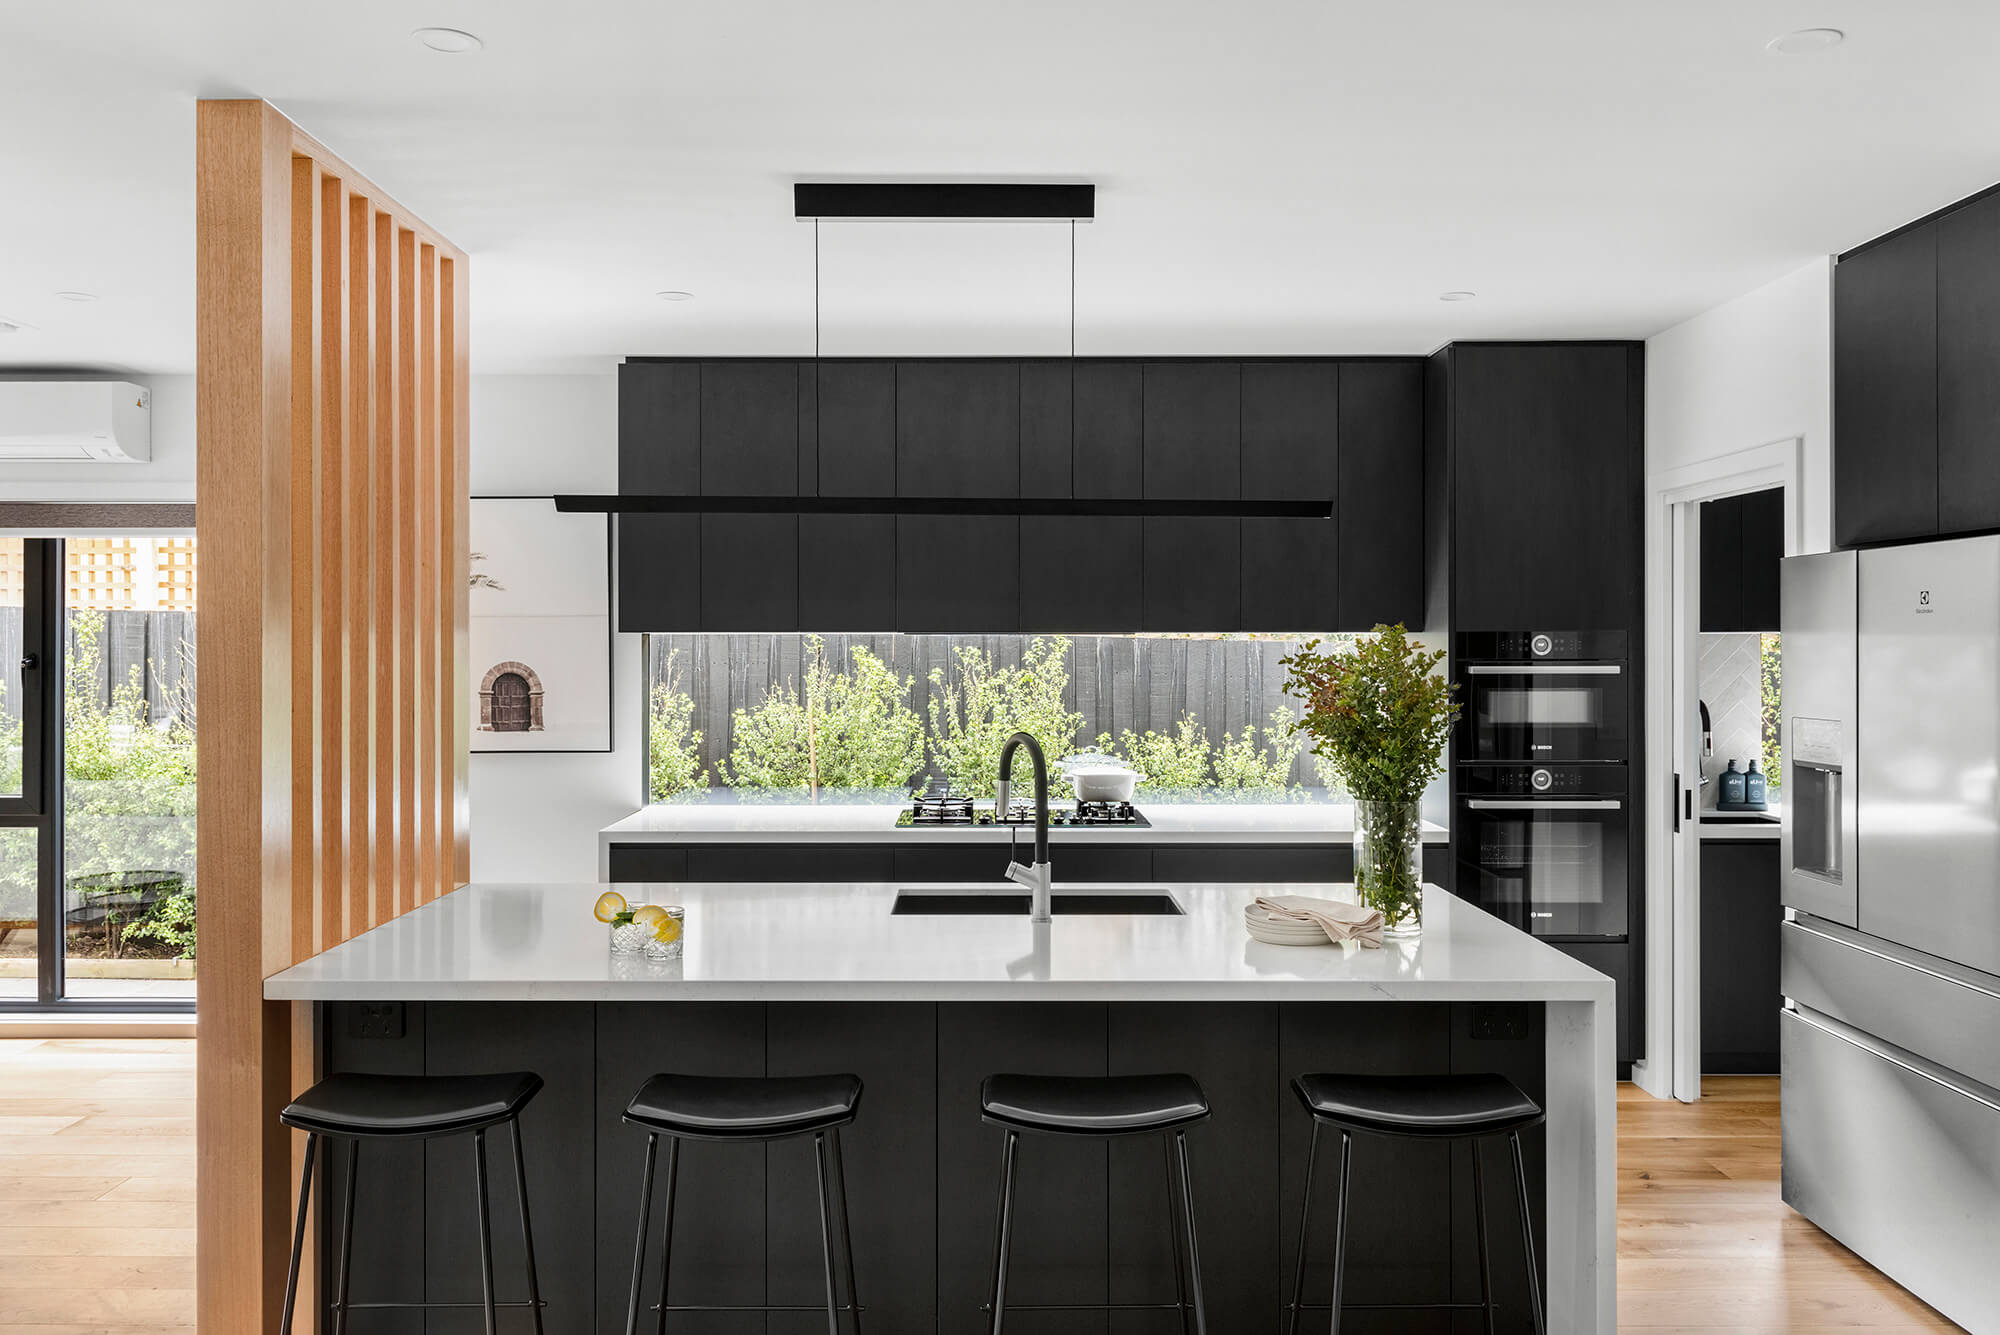
[[[858,1075],[654,1075],[626,1105],[624,1119],[646,1127],[646,1171],[638,1187],[638,1239],[632,1243],[632,1299],[626,1305],[626,1335],[638,1333],[638,1291],[646,1269],[646,1223],[652,1217],[652,1165],[666,1137],[666,1219],[660,1225],[660,1313],[656,1331],[666,1331],[670,1311],[820,1311],[802,1305],[668,1305],[666,1283],[674,1251],[674,1175],[680,1141],[780,1141],[812,1137],[820,1163],[820,1241],[826,1247],[826,1331],[840,1335],[840,1313],[852,1313],[854,1335],[862,1329],[862,1299],[854,1289],[854,1235],[848,1231],[848,1183],[840,1171],[840,1127],[854,1121],[862,1101]],[[834,1287],[834,1211],[840,1213],[842,1269],[848,1301]]]

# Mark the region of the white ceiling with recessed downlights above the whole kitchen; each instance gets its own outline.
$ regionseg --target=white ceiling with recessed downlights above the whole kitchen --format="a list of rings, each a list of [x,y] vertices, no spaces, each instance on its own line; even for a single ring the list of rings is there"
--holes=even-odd
[[[192,370],[200,96],[464,246],[480,372],[808,354],[800,178],[1098,182],[1084,354],[1428,352],[1654,334],[2000,180],[1996,52],[1990,0],[0,0],[0,366]],[[826,224],[822,348],[1066,352],[1068,244]]]

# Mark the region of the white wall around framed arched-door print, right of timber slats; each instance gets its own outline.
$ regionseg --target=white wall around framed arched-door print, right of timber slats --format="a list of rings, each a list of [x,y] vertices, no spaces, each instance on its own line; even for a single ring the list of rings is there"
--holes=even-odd
[[[618,490],[616,376],[474,376],[472,494]],[[642,799],[640,638],[612,646],[612,751],[472,757],[472,879],[594,881]]]

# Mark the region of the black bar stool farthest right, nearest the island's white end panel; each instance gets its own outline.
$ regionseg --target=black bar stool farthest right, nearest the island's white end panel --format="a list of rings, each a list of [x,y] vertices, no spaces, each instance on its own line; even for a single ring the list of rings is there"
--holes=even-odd
[[[1494,1329],[1494,1289],[1486,1261],[1486,1181],[1480,1171],[1480,1141],[1504,1135],[1514,1151],[1514,1189],[1520,1199],[1520,1245],[1528,1257],[1528,1301],[1534,1329],[1542,1325],[1542,1281],[1534,1263],[1534,1225],[1528,1217],[1528,1173],[1520,1161],[1520,1133],[1542,1121],[1542,1107],[1504,1075],[1300,1075],[1292,1093],[1312,1113],[1312,1145],[1306,1149],[1306,1199],[1298,1211],[1298,1271],[1292,1279],[1292,1319],[1298,1335],[1300,1299],[1306,1293],[1306,1223],[1312,1219],[1312,1165],[1320,1153],[1320,1127],[1340,1131],[1340,1189],[1334,1197],[1334,1295],[1332,1335],[1340,1335],[1340,1281],[1348,1259],[1348,1167],[1356,1135],[1410,1135],[1418,1139],[1472,1141],[1472,1211],[1480,1231],[1478,1303],[1348,1303],[1350,1311],[1440,1311],[1486,1313],[1486,1333]],[[1318,1309],[1318,1303],[1312,1305]]]

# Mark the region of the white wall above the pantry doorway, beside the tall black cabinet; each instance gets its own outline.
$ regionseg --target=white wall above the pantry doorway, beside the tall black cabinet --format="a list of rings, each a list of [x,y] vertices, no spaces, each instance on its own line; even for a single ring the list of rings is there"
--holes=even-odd
[[[1646,474],[1796,436],[1804,442],[1798,550],[1828,550],[1832,298],[1832,260],[1822,258],[1648,338]]]

